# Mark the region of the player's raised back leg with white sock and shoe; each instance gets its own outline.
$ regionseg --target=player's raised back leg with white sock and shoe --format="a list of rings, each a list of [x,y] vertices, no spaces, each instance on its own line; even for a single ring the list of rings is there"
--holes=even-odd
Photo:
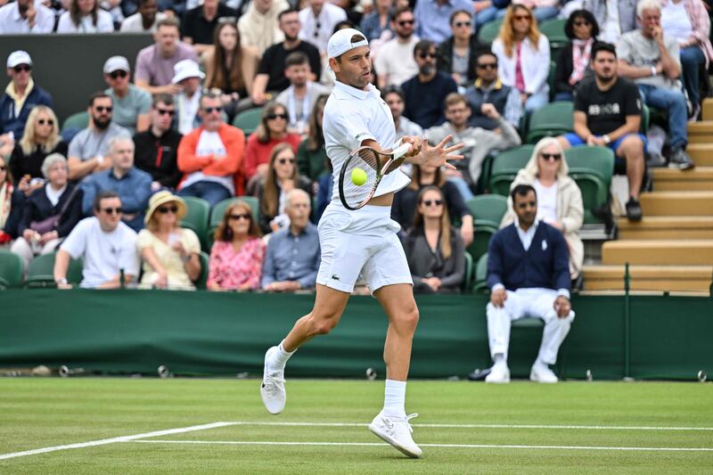
[[[265,369],[260,387],[260,396],[270,414],[283,412],[287,395],[284,389],[284,366],[290,356],[308,340],[332,331],[340,321],[349,294],[335,291],[324,285],[316,285],[315,307],[300,318],[287,338],[265,354]],[[409,348],[411,348],[409,346]],[[408,372],[408,366],[406,366]]]

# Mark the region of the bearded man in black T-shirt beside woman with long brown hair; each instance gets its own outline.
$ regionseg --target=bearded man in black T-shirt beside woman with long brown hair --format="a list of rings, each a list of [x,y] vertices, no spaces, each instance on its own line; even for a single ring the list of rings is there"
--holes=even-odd
[[[258,75],[252,84],[252,102],[264,104],[270,93],[280,93],[290,86],[290,80],[285,76],[285,61],[291,53],[305,53],[309,60],[309,80],[316,81],[320,74],[319,50],[315,45],[299,39],[299,11],[289,9],[281,12],[277,19],[284,33],[284,41],[270,46],[265,50],[258,66]]]

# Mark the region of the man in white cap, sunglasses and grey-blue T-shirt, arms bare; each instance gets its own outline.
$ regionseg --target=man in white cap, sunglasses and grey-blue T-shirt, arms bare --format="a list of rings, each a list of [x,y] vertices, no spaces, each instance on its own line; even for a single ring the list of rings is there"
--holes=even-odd
[[[114,104],[113,121],[132,135],[149,128],[151,94],[131,84],[131,68],[124,56],[111,56],[104,62],[104,92]]]

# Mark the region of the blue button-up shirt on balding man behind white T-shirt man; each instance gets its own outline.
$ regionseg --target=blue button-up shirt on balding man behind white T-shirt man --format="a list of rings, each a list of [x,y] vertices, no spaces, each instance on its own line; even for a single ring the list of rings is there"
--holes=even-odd
[[[103,191],[116,192],[121,200],[121,208],[124,213],[135,214],[132,220],[124,222],[135,231],[143,228],[143,215],[149,204],[151,197],[152,177],[148,173],[138,168],[131,168],[128,172],[118,178],[114,175],[114,169],[102,170],[87,176],[80,186],[84,192],[82,199],[82,212],[85,216],[92,216],[94,207],[94,197]]]

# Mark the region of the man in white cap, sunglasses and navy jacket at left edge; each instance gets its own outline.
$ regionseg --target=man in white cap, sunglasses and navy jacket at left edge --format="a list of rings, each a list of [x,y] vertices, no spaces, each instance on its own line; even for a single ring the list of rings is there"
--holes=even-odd
[[[0,142],[20,141],[33,107],[52,107],[52,96],[32,80],[32,59],[27,52],[10,53],[7,76],[11,83],[0,97]]]

